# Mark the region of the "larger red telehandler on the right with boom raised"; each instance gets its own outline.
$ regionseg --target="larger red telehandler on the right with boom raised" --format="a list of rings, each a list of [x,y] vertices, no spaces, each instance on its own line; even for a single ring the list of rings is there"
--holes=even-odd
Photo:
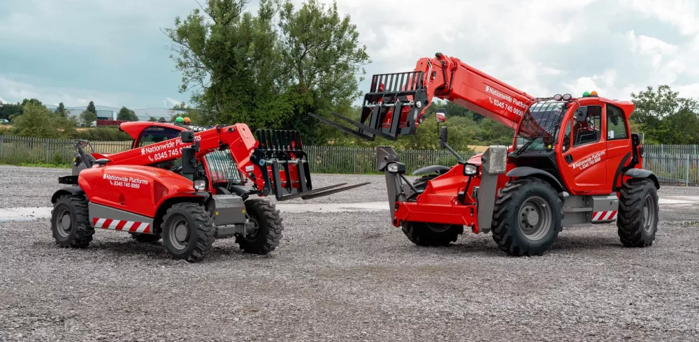
[[[414,71],[374,75],[360,121],[317,114],[326,124],[366,140],[415,133],[433,98],[462,105],[514,129],[512,145],[491,146],[452,167],[415,171],[391,147],[377,147],[393,225],[421,246],[443,246],[463,233],[492,232],[510,255],[542,255],[563,227],[617,222],[624,246],[651,246],[658,225],[658,179],[643,170],[643,147],[631,133],[633,103],[593,91],[534,98],[454,57],[423,58]],[[440,116],[445,115],[438,111]],[[439,118],[438,118],[439,120]]]

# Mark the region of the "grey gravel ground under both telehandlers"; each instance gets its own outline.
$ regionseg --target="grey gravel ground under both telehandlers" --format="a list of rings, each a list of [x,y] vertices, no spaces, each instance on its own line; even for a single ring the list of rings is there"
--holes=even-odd
[[[48,205],[64,173],[0,168],[0,207]],[[384,200],[382,177],[315,177],[362,179],[370,193],[329,198]],[[684,221],[699,221],[699,207],[661,209],[651,248],[623,248],[614,225],[596,225],[564,230],[538,258],[510,258],[470,233],[420,248],[388,211],[284,213],[277,251],[219,240],[198,264],[120,232],[73,250],[54,244],[48,220],[0,223],[0,341],[690,341],[699,232]]]

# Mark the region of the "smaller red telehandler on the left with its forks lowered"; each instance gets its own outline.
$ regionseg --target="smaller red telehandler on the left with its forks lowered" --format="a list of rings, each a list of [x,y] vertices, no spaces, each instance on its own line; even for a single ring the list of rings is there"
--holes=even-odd
[[[278,246],[283,225],[261,197],[310,199],[367,184],[313,188],[297,131],[260,130],[256,140],[245,124],[128,122],[120,130],[134,141],[117,154],[87,154],[92,145],[75,141],[73,174],[59,177],[69,186],[51,199],[59,246],[85,248],[94,228],[103,228],[142,242],[162,238],[172,258],[189,262],[229,237],[247,253],[266,254]]]

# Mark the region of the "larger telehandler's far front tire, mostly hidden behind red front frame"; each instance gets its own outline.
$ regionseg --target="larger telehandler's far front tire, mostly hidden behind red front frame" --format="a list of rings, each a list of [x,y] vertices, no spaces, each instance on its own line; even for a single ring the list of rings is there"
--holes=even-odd
[[[427,181],[435,177],[437,177],[435,174],[420,177],[413,182],[412,186],[417,190],[424,190],[427,187]],[[401,225],[401,230],[417,246],[449,246],[463,234],[463,225],[405,222]]]

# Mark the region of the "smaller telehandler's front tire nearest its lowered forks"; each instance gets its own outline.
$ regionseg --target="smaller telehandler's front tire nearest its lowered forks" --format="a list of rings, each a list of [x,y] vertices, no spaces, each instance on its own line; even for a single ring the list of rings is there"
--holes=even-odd
[[[260,198],[245,201],[250,223],[256,225],[251,234],[236,235],[236,243],[245,253],[267,254],[274,251],[282,240],[282,217],[275,205]]]

